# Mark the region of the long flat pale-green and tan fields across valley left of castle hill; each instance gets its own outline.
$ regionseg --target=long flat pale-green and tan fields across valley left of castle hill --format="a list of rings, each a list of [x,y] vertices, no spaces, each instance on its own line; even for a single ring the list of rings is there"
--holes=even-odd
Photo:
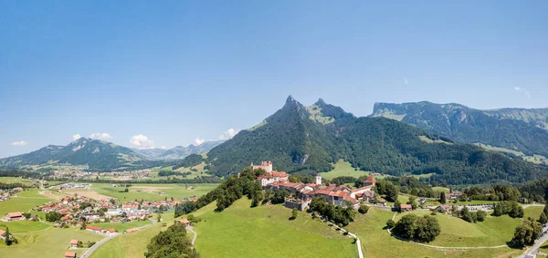
[[[200,197],[205,193],[212,191],[218,184],[203,183],[203,184],[140,184],[132,183],[129,192],[121,192],[124,187],[113,187],[111,183],[93,183],[90,190],[65,190],[66,193],[78,192],[84,196],[90,197],[110,196],[117,198],[120,201],[131,200],[148,200],[160,201],[165,198],[182,199],[184,197]],[[194,189],[188,187],[194,186]],[[140,192],[139,192],[140,191]],[[146,192],[150,191],[150,192]],[[165,193],[160,195],[159,192]]]

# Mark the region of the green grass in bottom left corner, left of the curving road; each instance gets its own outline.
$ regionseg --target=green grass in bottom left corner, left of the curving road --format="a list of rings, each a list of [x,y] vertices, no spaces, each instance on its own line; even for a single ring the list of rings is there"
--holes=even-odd
[[[22,233],[16,235],[19,243],[10,246],[0,244],[0,257],[58,258],[63,257],[65,252],[68,251],[71,239],[78,239],[83,242],[98,242],[102,238],[99,234],[80,231],[79,228],[50,228],[42,232]],[[75,252],[82,255],[86,250],[78,249]]]

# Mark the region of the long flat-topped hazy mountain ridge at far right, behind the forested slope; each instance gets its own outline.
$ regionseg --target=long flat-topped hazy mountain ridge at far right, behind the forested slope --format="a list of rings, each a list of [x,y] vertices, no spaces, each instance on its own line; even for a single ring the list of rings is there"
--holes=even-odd
[[[459,104],[376,103],[373,117],[396,119],[458,142],[548,157],[548,108],[479,110]]]

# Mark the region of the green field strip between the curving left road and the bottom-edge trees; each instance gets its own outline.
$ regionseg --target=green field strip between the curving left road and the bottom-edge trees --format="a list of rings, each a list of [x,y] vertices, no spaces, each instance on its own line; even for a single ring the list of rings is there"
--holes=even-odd
[[[123,257],[142,257],[146,252],[146,246],[151,239],[160,231],[164,231],[168,226],[174,223],[173,213],[163,213],[163,222],[146,227],[138,232],[121,234],[111,239],[108,243],[100,246],[90,258],[123,258]],[[163,226],[163,223],[166,226]],[[204,257],[204,256],[202,256]]]

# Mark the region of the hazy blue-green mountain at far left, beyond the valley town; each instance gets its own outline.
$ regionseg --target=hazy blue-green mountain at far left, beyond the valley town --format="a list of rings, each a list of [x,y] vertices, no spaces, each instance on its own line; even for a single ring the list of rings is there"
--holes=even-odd
[[[99,139],[80,138],[67,146],[49,145],[30,153],[0,160],[0,166],[18,168],[25,165],[87,165],[94,170],[111,170],[146,160],[133,150]]]

